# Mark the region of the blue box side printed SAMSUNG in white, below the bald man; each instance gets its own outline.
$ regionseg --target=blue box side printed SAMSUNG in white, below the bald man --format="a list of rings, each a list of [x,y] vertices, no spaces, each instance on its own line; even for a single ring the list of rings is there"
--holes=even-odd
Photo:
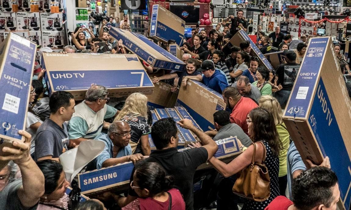
[[[81,193],[92,195],[105,191],[128,189],[133,168],[133,163],[127,162],[78,174]]]

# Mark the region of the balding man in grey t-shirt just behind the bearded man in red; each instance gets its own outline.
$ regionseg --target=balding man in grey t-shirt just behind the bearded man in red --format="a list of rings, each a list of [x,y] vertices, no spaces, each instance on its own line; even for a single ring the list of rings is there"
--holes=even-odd
[[[234,83],[232,87],[235,87],[241,96],[252,98],[256,103],[261,97],[260,90],[256,86],[251,85],[249,78],[246,76],[240,76],[238,81]]]

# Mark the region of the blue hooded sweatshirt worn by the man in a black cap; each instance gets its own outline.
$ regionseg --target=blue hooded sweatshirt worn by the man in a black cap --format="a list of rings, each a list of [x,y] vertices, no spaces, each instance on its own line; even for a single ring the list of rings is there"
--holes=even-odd
[[[227,78],[219,70],[215,70],[213,75],[209,78],[202,76],[202,82],[210,87],[212,90],[222,94],[222,91],[228,87]]]

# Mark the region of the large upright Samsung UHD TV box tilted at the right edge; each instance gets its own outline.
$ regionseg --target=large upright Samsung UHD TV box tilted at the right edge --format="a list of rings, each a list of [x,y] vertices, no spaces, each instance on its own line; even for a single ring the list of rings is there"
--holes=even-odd
[[[342,209],[351,201],[350,107],[331,37],[311,38],[283,119],[305,164],[306,158],[319,165],[329,157]]]

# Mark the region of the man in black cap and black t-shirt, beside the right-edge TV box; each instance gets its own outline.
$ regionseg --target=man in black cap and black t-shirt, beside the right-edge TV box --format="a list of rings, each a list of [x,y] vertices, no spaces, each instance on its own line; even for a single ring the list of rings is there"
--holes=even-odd
[[[282,89],[277,91],[274,95],[282,109],[285,108],[287,100],[289,99],[292,86],[294,85],[297,72],[299,71],[300,64],[296,63],[296,54],[292,50],[284,50],[283,54],[286,56],[286,63],[280,64],[277,67],[277,84],[282,85]]]

